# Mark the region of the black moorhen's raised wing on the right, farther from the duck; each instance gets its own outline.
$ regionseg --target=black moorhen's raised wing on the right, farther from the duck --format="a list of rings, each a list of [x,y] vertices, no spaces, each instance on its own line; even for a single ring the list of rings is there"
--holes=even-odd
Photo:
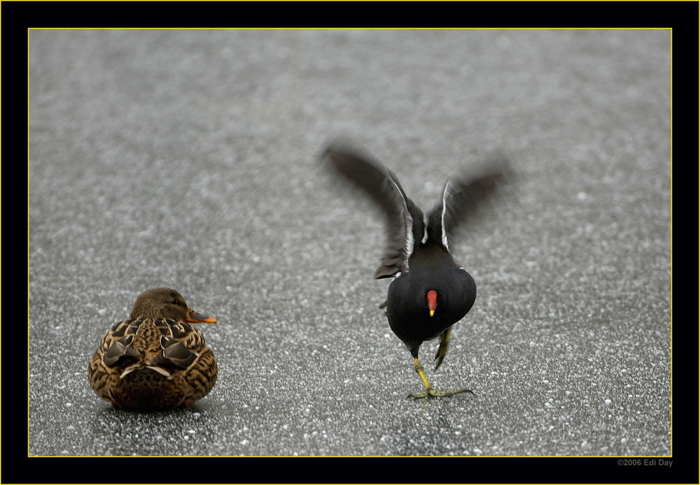
[[[440,202],[428,212],[428,238],[449,249],[449,237],[477,214],[479,206],[505,184],[510,173],[507,158],[493,155],[469,174],[450,179]]]

